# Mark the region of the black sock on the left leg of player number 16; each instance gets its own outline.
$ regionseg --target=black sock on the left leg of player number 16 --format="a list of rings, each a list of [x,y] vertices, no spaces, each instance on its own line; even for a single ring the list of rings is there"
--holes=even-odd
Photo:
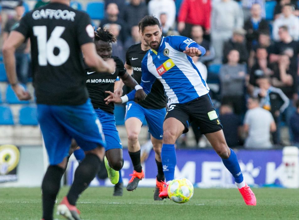
[[[64,173],[64,169],[58,166],[49,166],[45,173],[42,189],[43,200],[43,218],[45,220],[53,219],[53,209],[56,200],[56,196],[60,189],[61,177]]]

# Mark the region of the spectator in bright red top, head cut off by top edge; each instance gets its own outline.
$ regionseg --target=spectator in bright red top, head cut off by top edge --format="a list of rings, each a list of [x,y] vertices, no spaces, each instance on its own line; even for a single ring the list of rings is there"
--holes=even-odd
[[[178,31],[190,37],[194,25],[204,28],[206,34],[211,31],[211,0],[184,0],[178,15]]]

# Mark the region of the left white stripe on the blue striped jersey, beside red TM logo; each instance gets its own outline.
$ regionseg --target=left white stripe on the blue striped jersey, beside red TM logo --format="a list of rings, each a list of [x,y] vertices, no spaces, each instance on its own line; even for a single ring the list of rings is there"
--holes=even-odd
[[[166,96],[168,97],[168,106],[172,103],[179,103],[179,99],[176,96],[176,94],[174,93],[174,91],[169,87],[169,85],[166,83],[166,81],[158,74],[155,64],[152,63],[152,56],[150,55],[150,53],[147,54],[147,69],[157,79],[159,79],[161,81],[161,83],[164,87],[164,90],[166,92]]]

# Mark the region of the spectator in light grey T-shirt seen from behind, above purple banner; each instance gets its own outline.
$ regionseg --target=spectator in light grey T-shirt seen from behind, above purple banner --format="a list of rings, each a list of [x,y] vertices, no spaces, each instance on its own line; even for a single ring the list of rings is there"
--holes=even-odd
[[[259,106],[259,97],[250,97],[247,101],[243,130],[248,134],[245,148],[270,149],[270,132],[276,130],[271,113]]]

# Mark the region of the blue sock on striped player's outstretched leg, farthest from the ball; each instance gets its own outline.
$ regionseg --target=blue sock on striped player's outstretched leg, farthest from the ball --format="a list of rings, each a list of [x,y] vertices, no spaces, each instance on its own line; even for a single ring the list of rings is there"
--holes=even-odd
[[[231,148],[230,148],[231,149]],[[243,181],[243,174],[237,159],[236,153],[231,149],[231,155],[227,159],[222,159],[224,166],[232,173],[236,183]]]

